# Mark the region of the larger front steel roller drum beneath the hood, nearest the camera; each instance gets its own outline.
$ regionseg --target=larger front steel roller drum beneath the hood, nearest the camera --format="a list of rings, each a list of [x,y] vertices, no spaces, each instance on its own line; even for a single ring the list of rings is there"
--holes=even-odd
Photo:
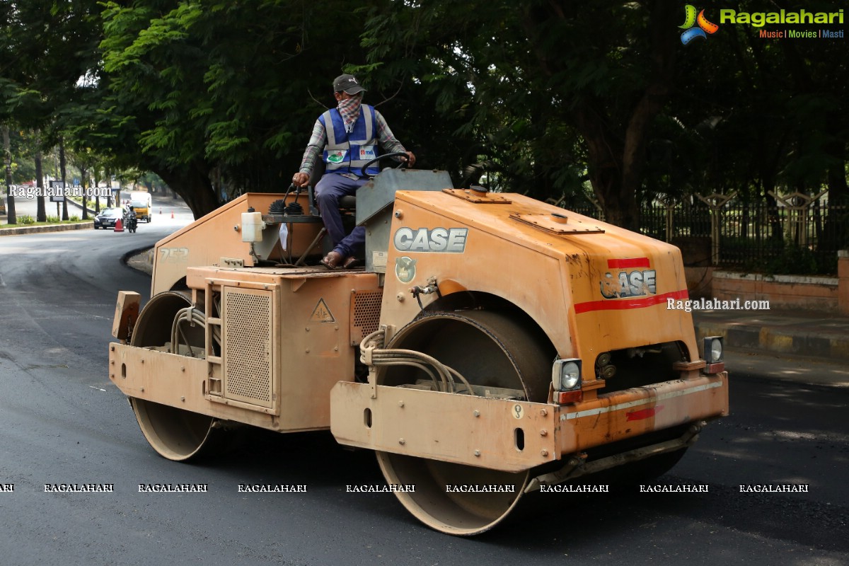
[[[544,402],[548,395],[554,347],[522,317],[495,311],[436,313],[402,328],[387,347],[424,352],[473,385],[519,389],[527,401]],[[397,386],[420,378],[424,373],[409,367],[383,367],[377,383]],[[384,451],[377,459],[389,484],[415,485],[413,492],[396,491],[404,507],[451,535],[492,529],[513,511],[531,477],[528,470],[503,472]]]

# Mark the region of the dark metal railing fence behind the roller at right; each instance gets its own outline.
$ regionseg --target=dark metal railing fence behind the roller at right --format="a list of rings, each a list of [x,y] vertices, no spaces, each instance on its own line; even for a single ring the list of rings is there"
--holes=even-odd
[[[829,206],[819,199],[779,199],[773,205],[693,200],[640,210],[640,231],[681,247],[689,264],[832,274],[837,271],[837,250],[849,248],[847,206]],[[564,206],[604,220],[599,207],[586,200]]]

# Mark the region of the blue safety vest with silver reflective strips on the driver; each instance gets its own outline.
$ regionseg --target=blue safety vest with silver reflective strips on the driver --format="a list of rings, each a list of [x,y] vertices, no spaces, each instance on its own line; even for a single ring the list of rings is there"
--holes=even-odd
[[[354,122],[351,133],[345,130],[345,120],[337,109],[329,109],[318,117],[327,132],[327,145],[324,147],[325,171],[335,173],[355,173],[360,175],[363,165],[380,155],[375,138],[377,120],[374,107],[368,104],[360,106],[360,115]],[[369,175],[380,173],[380,164],[375,162],[366,170]]]

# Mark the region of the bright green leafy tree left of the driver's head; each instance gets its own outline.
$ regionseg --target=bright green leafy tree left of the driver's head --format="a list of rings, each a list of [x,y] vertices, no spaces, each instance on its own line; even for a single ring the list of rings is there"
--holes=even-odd
[[[364,61],[363,17],[341,0],[107,3],[97,148],[154,171],[195,216],[282,191],[323,110],[310,93],[330,104],[333,77]]]

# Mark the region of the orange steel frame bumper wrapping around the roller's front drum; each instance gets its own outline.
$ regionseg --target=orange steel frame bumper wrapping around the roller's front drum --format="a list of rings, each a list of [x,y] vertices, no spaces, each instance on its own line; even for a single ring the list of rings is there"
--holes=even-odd
[[[341,444],[507,472],[727,414],[725,372],[565,406],[347,382],[330,393]]]

